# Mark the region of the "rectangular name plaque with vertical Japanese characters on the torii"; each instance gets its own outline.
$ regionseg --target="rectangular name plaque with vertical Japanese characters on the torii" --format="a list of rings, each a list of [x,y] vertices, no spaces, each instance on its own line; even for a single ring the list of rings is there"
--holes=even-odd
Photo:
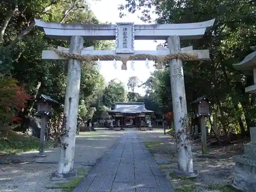
[[[134,23],[116,23],[116,53],[134,53]]]

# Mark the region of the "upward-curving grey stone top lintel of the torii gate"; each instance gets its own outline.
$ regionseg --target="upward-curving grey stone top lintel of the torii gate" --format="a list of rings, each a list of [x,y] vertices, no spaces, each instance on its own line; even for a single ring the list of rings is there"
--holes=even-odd
[[[80,25],[47,23],[35,19],[38,27],[44,28],[47,36],[55,39],[70,39],[71,36],[79,35],[84,39],[114,40],[118,25],[129,25],[134,30],[135,40],[165,40],[168,36],[178,35],[180,39],[200,39],[212,25],[215,19],[200,23],[188,24],[155,24],[134,25],[134,23],[117,23],[116,25]]]

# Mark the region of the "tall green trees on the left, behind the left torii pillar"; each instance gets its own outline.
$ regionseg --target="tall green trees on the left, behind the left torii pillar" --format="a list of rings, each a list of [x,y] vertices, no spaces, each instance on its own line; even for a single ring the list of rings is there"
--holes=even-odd
[[[77,24],[99,24],[99,20],[82,0],[4,1],[0,13],[0,74],[17,79],[18,86],[24,86],[31,98],[40,93],[57,100],[60,105],[54,106],[54,118],[60,118],[68,64],[66,61],[42,60],[41,52],[49,47],[69,47],[69,41],[46,38],[44,32],[35,28],[33,18]],[[111,49],[113,42],[86,40],[84,46]],[[83,64],[87,66],[88,63]],[[98,95],[102,95],[100,92],[104,88],[99,88],[102,79],[97,69],[82,69],[79,103],[84,102],[81,105],[86,106],[87,113],[97,104]],[[28,128],[33,111],[34,102],[29,101],[21,114],[20,131]]]

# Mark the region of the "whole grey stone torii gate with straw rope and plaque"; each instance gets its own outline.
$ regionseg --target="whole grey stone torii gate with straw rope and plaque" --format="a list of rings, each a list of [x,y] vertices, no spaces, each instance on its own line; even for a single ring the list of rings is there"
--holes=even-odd
[[[58,47],[44,50],[42,59],[69,60],[68,80],[65,96],[65,114],[67,116],[68,136],[62,137],[60,160],[55,176],[66,178],[75,174],[73,170],[74,147],[80,87],[81,61],[121,60],[122,70],[126,70],[127,60],[155,60],[158,68],[162,61],[169,62],[172,84],[175,132],[182,132],[181,118],[187,114],[182,60],[209,59],[208,50],[193,50],[193,47],[181,49],[180,39],[200,39],[214,24],[215,19],[201,23],[134,25],[134,23],[116,23],[116,25],[74,25],[46,23],[35,19],[36,26],[44,28],[47,36],[55,39],[71,39],[70,48]],[[83,48],[83,38],[91,40],[116,40],[116,50],[94,50]],[[168,48],[158,47],[156,51],[134,50],[135,40],[166,40]],[[190,143],[182,132],[178,143],[178,170],[180,176],[195,176]],[[185,147],[186,146],[186,147]]]

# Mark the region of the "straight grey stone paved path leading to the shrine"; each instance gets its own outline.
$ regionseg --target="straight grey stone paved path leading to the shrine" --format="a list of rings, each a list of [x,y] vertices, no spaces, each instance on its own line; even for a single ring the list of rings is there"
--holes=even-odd
[[[82,191],[174,192],[134,131],[123,134],[73,190]]]

